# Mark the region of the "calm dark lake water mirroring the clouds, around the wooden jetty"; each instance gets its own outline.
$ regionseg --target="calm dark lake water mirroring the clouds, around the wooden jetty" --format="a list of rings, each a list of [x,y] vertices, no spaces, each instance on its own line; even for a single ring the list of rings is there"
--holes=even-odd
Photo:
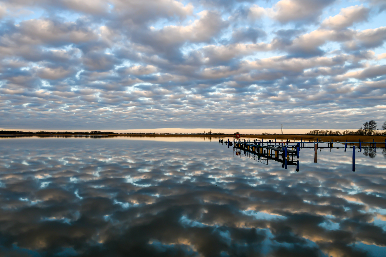
[[[0,256],[386,255],[382,151],[297,174],[197,140],[0,139]]]

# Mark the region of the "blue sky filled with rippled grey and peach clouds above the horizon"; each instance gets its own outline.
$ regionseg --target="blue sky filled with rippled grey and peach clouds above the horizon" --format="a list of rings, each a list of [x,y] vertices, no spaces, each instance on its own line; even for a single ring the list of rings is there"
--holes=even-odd
[[[0,128],[386,121],[385,0],[0,0]]]

